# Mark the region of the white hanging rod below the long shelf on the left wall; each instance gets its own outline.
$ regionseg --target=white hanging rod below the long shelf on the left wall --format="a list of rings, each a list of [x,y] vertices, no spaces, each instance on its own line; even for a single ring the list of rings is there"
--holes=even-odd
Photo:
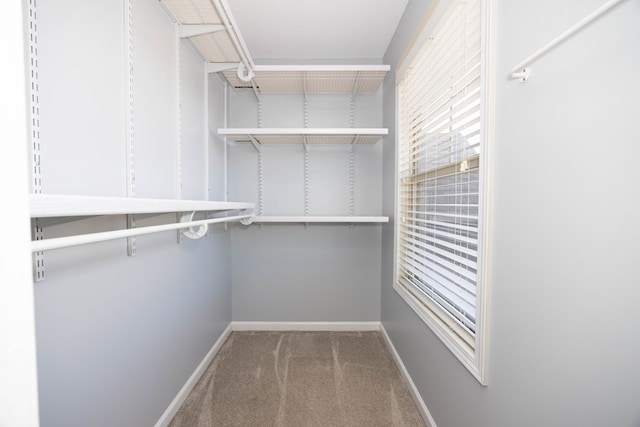
[[[222,218],[210,218],[198,221],[176,222],[171,224],[153,225],[149,227],[131,228],[127,230],[105,231],[101,233],[80,234],[77,236],[58,237],[45,240],[34,240],[31,242],[31,252],[48,251],[52,249],[68,248],[71,246],[86,245],[88,243],[104,242],[107,240],[121,239],[125,237],[140,236],[143,234],[159,233],[162,231],[178,230],[181,228],[199,227],[207,224],[219,222],[231,222],[241,220],[252,220],[253,214],[235,215]]]

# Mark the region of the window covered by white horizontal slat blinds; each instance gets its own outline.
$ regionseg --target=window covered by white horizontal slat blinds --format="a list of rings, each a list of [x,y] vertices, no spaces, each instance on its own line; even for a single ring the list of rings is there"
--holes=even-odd
[[[488,13],[446,3],[398,71],[395,288],[485,384]]]

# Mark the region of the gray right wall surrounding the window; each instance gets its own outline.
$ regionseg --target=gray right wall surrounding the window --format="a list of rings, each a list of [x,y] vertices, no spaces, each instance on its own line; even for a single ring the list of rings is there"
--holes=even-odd
[[[526,84],[507,78],[601,4],[497,2],[488,387],[392,289],[393,231],[383,230],[382,320],[440,427],[640,425],[640,4],[623,3],[535,62]],[[385,57],[392,67],[426,6],[409,2]]]

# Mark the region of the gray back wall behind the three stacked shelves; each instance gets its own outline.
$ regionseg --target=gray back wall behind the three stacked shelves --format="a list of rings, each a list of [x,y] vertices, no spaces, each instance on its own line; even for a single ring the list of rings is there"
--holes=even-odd
[[[382,91],[355,100],[355,127],[382,126]],[[349,127],[348,96],[309,96],[309,127]],[[262,126],[304,127],[302,95],[263,95]],[[229,127],[258,127],[252,93],[230,91]],[[257,151],[229,146],[231,200],[259,207]],[[304,148],[265,146],[264,215],[304,215]],[[349,215],[349,147],[310,146],[309,215]],[[354,147],[355,215],[381,212],[382,142]],[[232,226],[234,321],[380,319],[381,225]]]

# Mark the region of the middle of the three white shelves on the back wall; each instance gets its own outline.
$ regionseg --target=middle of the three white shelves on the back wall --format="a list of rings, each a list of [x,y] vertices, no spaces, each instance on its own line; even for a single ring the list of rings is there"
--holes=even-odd
[[[246,128],[218,129],[234,142],[259,144],[375,144],[388,129],[379,128]]]

